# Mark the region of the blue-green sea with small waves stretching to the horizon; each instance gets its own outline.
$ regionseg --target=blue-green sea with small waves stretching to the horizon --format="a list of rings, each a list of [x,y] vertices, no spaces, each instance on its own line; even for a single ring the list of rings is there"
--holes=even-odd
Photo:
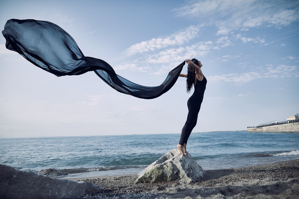
[[[125,175],[176,148],[180,134],[1,138],[0,163],[37,173],[57,169],[80,178]],[[204,170],[299,158],[299,133],[192,133],[187,151]]]

